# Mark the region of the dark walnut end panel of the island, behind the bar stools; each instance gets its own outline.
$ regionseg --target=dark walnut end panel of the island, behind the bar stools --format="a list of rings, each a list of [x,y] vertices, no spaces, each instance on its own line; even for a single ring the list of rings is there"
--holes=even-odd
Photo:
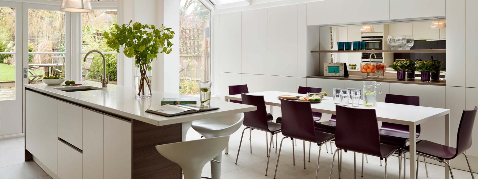
[[[134,119],[131,123],[131,178],[181,179],[181,167],[160,155],[155,147],[156,145],[181,142],[181,123],[155,126]]]

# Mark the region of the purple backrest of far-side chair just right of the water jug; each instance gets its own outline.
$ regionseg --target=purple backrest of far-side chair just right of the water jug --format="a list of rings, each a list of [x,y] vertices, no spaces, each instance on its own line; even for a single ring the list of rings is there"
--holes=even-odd
[[[396,94],[386,94],[385,102],[394,103],[394,104],[406,104],[413,106],[420,106],[420,97],[419,96],[406,96],[406,95],[396,95]],[[408,125],[402,125],[397,123],[387,123],[383,122],[382,129],[391,129],[396,131],[410,131]],[[416,126],[416,134],[420,135],[421,127],[420,124]]]

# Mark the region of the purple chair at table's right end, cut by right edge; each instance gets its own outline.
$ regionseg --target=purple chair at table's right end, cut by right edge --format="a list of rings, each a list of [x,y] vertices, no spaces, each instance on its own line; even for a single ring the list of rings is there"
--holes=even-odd
[[[456,148],[437,144],[427,140],[420,140],[416,145],[416,154],[418,156],[426,157],[434,159],[438,162],[443,162],[446,164],[448,169],[450,170],[451,178],[455,179],[453,176],[452,169],[450,164],[445,160],[451,160],[457,157],[460,154],[463,154],[467,159],[468,168],[471,173],[471,178],[475,179],[473,175],[473,171],[471,170],[470,162],[468,161],[468,157],[465,154],[471,147],[471,137],[473,132],[473,123],[475,123],[475,117],[477,115],[478,107],[475,106],[473,110],[465,110],[461,114],[460,124],[458,125],[458,132],[456,135]],[[402,154],[405,152],[410,152],[409,147],[406,147],[402,150]],[[418,163],[418,162],[417,162]],[[399,171],[399,178],[400,178],[400,171]],[[418,165],[417,165],[417,177],[418,177]]]

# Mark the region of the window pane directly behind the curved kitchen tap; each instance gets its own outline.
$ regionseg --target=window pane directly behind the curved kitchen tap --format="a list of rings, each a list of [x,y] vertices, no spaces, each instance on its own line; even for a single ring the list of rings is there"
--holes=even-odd
[[[103,32],[109,31],[116,21],[116,10],[93,10],[91,13],[81,15],[81,59],[82,80],[100,81],[103,75],[103,58],[98,53],[85,55],[90,50],[99,50],[106,57],[106,76],[110,83],[117,81],[117,57],[118,53],[106,45]]]

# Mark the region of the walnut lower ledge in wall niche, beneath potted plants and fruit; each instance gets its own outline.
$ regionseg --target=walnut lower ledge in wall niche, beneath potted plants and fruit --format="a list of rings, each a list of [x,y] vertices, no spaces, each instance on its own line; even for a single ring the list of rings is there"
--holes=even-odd
[[[324,78],[324,79],[342,79],[342,80],[355,80],[355,81],[377,81],[377,82],[387,82],[387,83],[405,83],[405,84],[415,84],[415,85],[436,85],[436,86],[446,86],[446,81],[431,81],[431,82],[422,82],[419,78],[415,80],[405,80],[405,81],[399,81],[397,78],[370,78],[370,79],[364,79],[364,76],[352,76],[350,75],[349,77],[325,77],[323,75],[317,75],[317,76],[307,76],[307,78]]]

